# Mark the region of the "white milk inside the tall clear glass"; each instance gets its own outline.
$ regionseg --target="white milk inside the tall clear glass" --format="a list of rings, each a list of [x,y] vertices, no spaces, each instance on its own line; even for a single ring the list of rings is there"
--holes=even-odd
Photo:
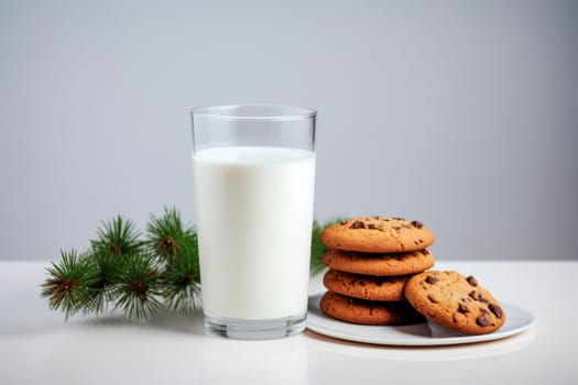
[[[315,154],[219,147],[193,157],[203,306],[264,320],[307,309]]]

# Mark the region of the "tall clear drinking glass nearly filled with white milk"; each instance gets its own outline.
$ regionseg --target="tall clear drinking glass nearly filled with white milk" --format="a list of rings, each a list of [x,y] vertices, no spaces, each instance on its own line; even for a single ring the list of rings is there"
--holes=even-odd
[[[205,328],[250,340],[303,331],[316,111],[218,106],[192,118]]]

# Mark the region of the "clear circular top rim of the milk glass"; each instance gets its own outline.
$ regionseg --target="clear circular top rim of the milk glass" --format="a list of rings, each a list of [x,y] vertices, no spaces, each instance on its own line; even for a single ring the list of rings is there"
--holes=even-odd
[[[276,113],[246,113],[238,114],[240,109],[270,109]],[[279,112],[279,111],[286,111]],[[307,120],[315,118],[317,111],[307,107],[294,107],[285,105],[222,105],[222,106],[205,106],[190,110],[193,117],[211,118],[218,120]]]

